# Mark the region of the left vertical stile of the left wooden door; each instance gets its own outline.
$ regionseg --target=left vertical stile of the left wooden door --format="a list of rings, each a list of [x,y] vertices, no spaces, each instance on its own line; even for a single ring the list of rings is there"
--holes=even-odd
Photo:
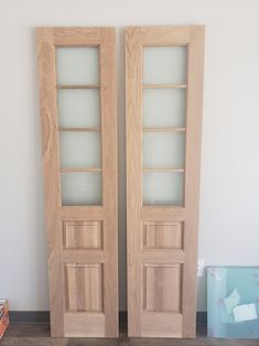
[[[64,335],[63,270],[61,262],[62,225],[60,221],[61,186],[57,170],[58,139],[55,88],[55,48],[53,30],[36,31],[39,87],[42,119],[42,154],[45,190],[45,228],[47,234],[48,290],[52,336]]]

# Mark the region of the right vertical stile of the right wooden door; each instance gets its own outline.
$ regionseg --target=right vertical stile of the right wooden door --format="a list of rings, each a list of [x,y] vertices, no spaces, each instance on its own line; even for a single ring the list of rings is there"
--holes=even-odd
[[[183,269],[183,336],[196,332],[196,263],[198,231],[199,165],[203,111],[205,28],[190,32],[186,105],[186,164],[185,164],[185,266]]]

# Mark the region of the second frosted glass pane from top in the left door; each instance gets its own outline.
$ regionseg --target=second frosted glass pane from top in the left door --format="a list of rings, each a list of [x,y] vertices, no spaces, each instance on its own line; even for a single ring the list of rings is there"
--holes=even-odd
[[[98,89],[61,89],[57,93],[60,127],[100,127]]]

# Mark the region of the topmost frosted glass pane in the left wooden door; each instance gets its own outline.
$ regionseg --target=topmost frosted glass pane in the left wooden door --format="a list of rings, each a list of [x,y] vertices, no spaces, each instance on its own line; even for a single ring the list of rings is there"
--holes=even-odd
[[[58,47],[57,84],[99,84],[98,47]]]

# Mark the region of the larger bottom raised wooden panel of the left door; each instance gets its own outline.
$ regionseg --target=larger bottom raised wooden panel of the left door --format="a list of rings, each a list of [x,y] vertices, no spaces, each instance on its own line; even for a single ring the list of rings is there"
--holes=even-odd
[[[67,311],[102,311],[101,264],[67,263],[65,280]]]

